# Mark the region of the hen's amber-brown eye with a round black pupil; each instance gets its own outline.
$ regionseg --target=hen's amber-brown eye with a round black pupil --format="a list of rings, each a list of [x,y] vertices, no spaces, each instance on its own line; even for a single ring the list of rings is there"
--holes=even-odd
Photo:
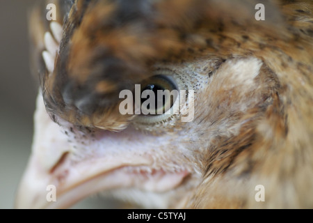
[[[141,114],[165,114],[178,95],[174,80],[167,75],[155,75],[141,84]]]

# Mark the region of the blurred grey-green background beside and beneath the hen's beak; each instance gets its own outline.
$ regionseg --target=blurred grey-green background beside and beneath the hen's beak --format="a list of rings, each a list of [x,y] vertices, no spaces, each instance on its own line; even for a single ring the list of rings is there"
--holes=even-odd
[[[0,208],[14,208],[31,153],[38,86],[30,73],[27,14],[39,1],[0,1]],[[106,203],[94,197],[74,208],[106,208]]]

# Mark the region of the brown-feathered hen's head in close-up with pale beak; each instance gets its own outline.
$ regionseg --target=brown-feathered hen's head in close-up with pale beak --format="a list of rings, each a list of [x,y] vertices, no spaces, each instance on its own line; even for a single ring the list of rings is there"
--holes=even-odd
[[[40,93],[17,208],[97,192],[146,208],[313,208],[313,1],[49,3],[30,18]],[[144,90],[181,94],[145,114]]]

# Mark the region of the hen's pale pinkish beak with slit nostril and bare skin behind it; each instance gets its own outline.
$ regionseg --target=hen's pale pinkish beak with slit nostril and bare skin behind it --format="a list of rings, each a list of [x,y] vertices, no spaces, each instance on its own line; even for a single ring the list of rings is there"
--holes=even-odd
[[[97,192],[136,187],[163,193],[180,185],[189,171],[157,167],[143,140],[151,146],[157,139],[128,129],[86,136],[61,128],[51,121],[39,94],[32,153],[16,208],[68,208]]]

